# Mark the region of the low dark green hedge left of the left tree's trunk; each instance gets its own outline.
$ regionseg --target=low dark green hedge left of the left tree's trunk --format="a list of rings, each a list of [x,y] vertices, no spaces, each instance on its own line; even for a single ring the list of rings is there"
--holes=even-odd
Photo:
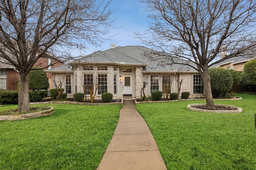
[[[0,104],[18,104],[18,91],[0,90]]]

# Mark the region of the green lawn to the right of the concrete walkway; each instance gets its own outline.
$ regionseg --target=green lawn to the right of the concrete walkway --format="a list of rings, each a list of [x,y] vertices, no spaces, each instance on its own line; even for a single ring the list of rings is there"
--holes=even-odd
[[[215,100],[242,113],[203,113],[186,106],[193,100],[138,104],[168,170],[256,170],[256,95],[242,100]]]

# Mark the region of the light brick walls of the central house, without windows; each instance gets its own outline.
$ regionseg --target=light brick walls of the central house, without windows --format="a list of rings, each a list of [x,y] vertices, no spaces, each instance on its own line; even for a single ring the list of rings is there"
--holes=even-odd
[[[83,93],[83,84],[84,84],[84,74],[93,74],[93,78],[95,83],[98,83],[98,74],[107,74],[107,86],[108,92],[113,94],[113,99],[123,98],[123,88],[124,88],[124,77],[131,77],[132,84],[132,98],[141,98],[141,90],[143,87],[143,81],[148,82],[148,85],[144,89],[146,96],[150,96],[150,75],[158,75],[159,76],[159,90],[162,91],[162,82],[160,78],[162,78],[163,73],[145,73],[142,71],[142,66],[120,66],[114,64],[102,64],[101,66],[107,66],[108,70],[98,70],[98,65],[93,65],[93,70],[84,70],[84,66],[86,65],[77,65],[74,66],[74,72],[69,73],[53,73],[52,84],[54,84],[54,77],[57,82],[60,82],[62,79],[62,88],[65,89],[65,75],[71,74],[72,76],[72,93],[68,94],[69,98],[72,98],[74,93]],[[114,70],[114,67],[116,70]],[[126,73],[123,72],[123,69],[132,69],[132,72]],[[117,75],[117,94],[114,94],[114,74]],[[194,98],[196,96],[203,97],[204,94],[193,94],[193,75],[198,73],[178,73],[172,72],[167,73],[172,77],[177,78],[177,76],[183,76],[184,79],[182,81],[182,86],[180,90],[181,95],[182,92],[190,92],[190,98]],[[122,76],[122,81],[119,80],[119,76]],[[178,85],[176,79],[173,78],[171,93],[178,93]],[[55,88],[53,86],[53,88]],[[143,93],[142,93],[143,95]],[[87,95],[87,99],[90,98],[90,95]],[[101,95],[98,95],[98,90],[96,91],[96,96],[94,100],[101,100]]]

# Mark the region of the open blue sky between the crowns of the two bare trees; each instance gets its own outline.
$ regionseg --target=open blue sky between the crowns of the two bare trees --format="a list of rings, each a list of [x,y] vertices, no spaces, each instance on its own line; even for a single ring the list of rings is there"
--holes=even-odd
[[[138,31],[142,33],[148,28],[147,14],[143,9],[145,5],[146,4],[138,2],[138,0],[113,0],[109,8],[112,11],[115,10],[112,14],[112,18],[116,18],[114,26],[118,28],[110,29],[108,36],[118,34],[112,38],[112,41],[102,43],[101,47],[96,48],[92,45],[88,45],[89,48],[85,50],[86,53],[84,53],[84,55],[98,50],[107,50],[112,43],[115,43],[116,46],[141,45],[140,41],[132,37],[134,37],[133,32]],[[73,55],[78,54],[74,51]]]

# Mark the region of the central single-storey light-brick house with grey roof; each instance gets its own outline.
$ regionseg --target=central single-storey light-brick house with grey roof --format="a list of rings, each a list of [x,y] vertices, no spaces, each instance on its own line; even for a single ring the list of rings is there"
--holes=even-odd
[[[114,99],[141,98],[143,82],[148,82],[144,92],[150,96],[156,90],[163,91],[163,80],[178,76],[184,78],[180,93],[190,92],[190,98],[204,95],[202,78],[196,70],[182,64],[160,66],[145,57],[144,50],[151,49],[142,46],[116,47],[112,44],[108,50],[96,51],[46,72],[52,73],[52,84],[61,84],[68,97],[83,93],[83,87],[89,94],[88,86],[98,84],[96,100],[100,100],[104,92],[112,93]],[[172,92],[178,93],[175,79],[171,84]]]

